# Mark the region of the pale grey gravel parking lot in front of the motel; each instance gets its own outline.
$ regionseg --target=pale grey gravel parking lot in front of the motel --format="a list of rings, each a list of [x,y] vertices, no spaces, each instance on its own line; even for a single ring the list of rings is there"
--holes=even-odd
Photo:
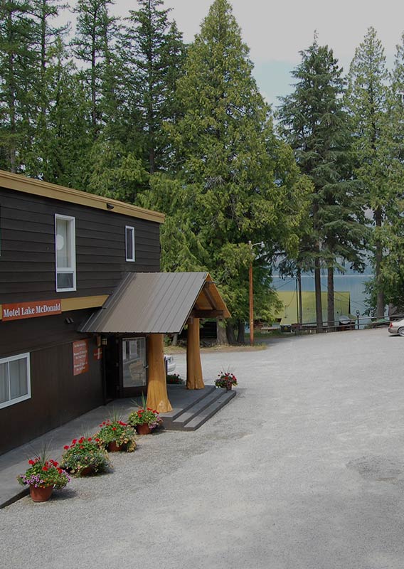
[[[238,396],[1,510],[0,567],[403,569],[403,349],[376,329],[203,353],[207,383],[230,368]]]

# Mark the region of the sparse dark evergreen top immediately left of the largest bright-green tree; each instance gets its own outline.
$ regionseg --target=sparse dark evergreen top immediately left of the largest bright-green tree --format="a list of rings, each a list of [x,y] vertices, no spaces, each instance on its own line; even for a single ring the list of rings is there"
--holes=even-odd
[[[133,126],[141,134],[144,159],[150,174],[166,165],[165,121],[178,114],[176,80],[182,74],[185,46],[169,9],[162,0],[139,0],[139,10],[130,11],[122,39],[124,88],[127,100],[140,111]]]

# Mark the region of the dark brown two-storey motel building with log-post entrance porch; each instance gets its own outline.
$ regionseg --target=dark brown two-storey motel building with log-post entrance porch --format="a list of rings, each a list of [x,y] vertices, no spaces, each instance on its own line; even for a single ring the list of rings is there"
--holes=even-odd
[[[168,413],[164,334],[230,314],[207,272],[160,270],[164,215],[0,170],[0,454],[117,398]]]

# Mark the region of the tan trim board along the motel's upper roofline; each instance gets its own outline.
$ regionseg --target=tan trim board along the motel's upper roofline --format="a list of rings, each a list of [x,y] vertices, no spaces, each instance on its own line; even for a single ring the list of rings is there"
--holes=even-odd
[[[120,213],[124,216],[146,219],[156,223],[164,223],[165,219],[164,213],[159,213],[159,211],[139,208],[123,201],[97,196],[95,193],[87,193],[74,190],[73,188],[66,188],[65,186],[49,184],[49,182],[26,178],[26,176],[21,176],[21,174],[12,174],[4,170],[0,170],[0,186],[9,190],[31,193],[34,196],[78,203],[80,206],[102,209],[110,213]],[[110,207],[107,207],[107,204]]]

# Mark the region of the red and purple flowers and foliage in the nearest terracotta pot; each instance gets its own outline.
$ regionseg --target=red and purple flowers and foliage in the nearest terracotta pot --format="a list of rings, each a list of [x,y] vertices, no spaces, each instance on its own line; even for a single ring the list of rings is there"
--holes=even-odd
[[[45,454],[28,460],[29,468],[25,474],[18,474],[17,480],[23,486],[34,486],[35,488],[46,488],[52,486],[61,489],[70,482],[70,477],[59,463],[53,459],[48,459]]]

